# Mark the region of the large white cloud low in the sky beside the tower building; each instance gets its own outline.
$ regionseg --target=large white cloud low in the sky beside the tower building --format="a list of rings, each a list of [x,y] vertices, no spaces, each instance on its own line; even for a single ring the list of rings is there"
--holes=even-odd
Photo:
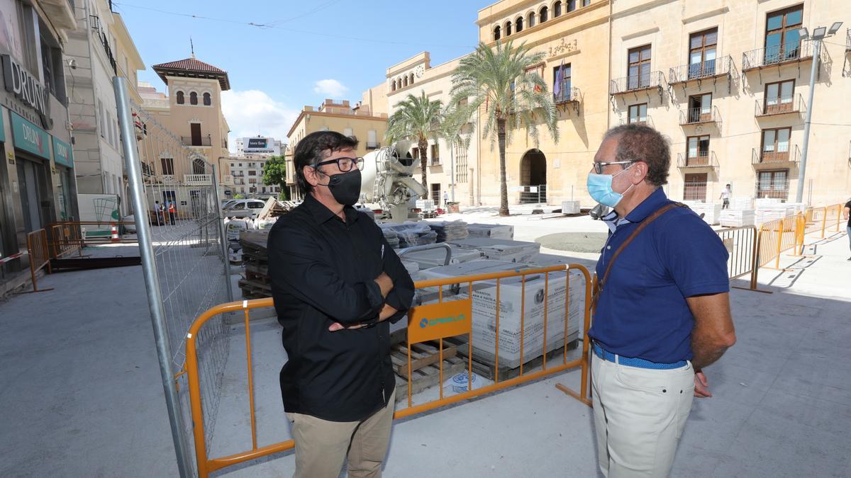
[[[299,116],[299,110],[272,100],[268,94],[257,89],[223,91],[221,109],[231,127],[231,134],[228,135],[231,151],[234,151],[233,139],[258,134],[286,142],[287,132]]]

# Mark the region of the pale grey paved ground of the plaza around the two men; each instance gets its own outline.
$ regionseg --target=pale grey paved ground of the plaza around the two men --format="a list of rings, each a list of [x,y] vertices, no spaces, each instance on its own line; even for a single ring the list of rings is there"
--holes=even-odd
[[[440,219],[511,224],[515,238],[528,241],[606,231],[587,217],[498,218],[495,208]],[[786,270],[760,270],[760,288],[772,293],[733,289],[738,343],[705,369],[715,396],[695,400],[673,476],[851,476],[848,237],[808,243],[805,257],[783,254]],[[586,266],[597,259],[542,252]],[[54,290],[0,303],[0,475],[177,475],[141,268],[63,272],[39,283]],[[271,313],[262,316],[251,322],[261,446],[289,437],[277,384],[280,328]],[[213,455],[251,446],[244,339],[235,324]],[[579,381],[578,371],[563,373],[399,420],[384,475],[596,476],[591,408],[555,388]],[[293,452],[283,452],[217,475],[293,470]]]

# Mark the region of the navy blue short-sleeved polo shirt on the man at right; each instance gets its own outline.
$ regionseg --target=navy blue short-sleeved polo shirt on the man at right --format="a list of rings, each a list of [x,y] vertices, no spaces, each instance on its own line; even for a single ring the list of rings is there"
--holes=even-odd
[[[631,232],[671,203],[660,189],[621,220],[601,250],[597,276]],[[703,219],[673,208],[638,233],[614,262],[588,334],[614,354],[658,363],[691,360],[687,297],[730,290],[727,248]]]

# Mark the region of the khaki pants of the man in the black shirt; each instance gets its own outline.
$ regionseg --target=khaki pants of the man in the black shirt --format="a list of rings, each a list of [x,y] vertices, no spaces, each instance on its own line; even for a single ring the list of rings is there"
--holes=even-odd
[[[349,476],[380,478],[395,406],[393,390],[386,407],[359,422],[331,422],[287,413],[295,441],[293,478],[337,478],[346,458]]]

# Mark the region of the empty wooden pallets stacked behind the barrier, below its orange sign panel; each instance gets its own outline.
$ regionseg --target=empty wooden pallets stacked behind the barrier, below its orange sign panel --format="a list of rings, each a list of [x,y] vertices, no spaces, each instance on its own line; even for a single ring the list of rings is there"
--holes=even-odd
[[[396,372],[396,401],[408,399],[408,345],[395,344],[391,347],[391,361]],[[437,342],[424,342],[411,346],[411,394],[420,393],[440,383],[440,361]],[[416,368],[414,368],[416,364]],[[443,381],[455,373],[464,372],[467,361],[458,356],[452,344],[443,342]]]

